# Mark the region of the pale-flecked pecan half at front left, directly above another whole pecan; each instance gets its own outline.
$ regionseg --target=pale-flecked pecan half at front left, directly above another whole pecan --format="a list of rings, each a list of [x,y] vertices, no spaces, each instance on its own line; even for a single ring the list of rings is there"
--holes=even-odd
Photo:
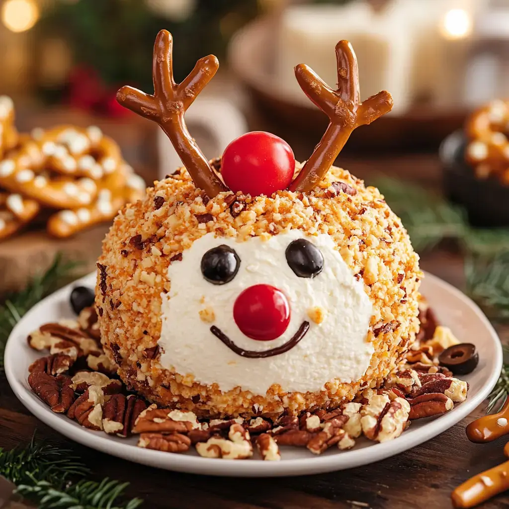
[[[147,408],[136,419],[133,433],[188,433],[200,428],[193,412]]]

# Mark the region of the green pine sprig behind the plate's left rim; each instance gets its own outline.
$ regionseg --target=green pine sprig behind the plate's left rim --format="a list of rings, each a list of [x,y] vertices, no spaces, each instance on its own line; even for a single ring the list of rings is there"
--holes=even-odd
[[[80,262],[65,261],[61,254],[57,254],[44,274],[34,277],[24,290],[8,295],[0,305],[0,371],[4,366],[5,346],[14,326],[41,299],[73,279],[81,265]]]

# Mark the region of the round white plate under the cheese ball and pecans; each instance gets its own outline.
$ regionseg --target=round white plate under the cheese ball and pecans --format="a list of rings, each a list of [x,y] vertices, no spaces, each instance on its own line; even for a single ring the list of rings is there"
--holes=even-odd
[[[472,412],[488,396],[500,374],[502,349],[498,336],[483,312],[464,294],[441,279],[428,274],[422,293],[435,310],[439,321],[449,326],[460,341],[476,345],[480,360],[477,369],[463,377],[469,384],[468,399],[450,412],[436,418],[412,422],[399,438],[382,444],[358,440],[348,451],[331,447],[315,456],[307,449],[282,447],[281,461],[244,461],[201,458],[195,451],[186,454],[162,453],[136,447],[136,437],[122,439],[103,432],[89,431],[65,415],[55,414],[31,391],[26,379],[29,365],[40,353],[26,342],[27,335],[43,323],[73,318],[69,294],[74,286],[94,286],[90,274],[47,297],[27,313],[13,330],[5,351],[7,379],[13,391],[36,417],[66,437],[104,453],[152,467],[207,475],[245,477],[316,474],[353,468],[401,453],[444,432]]]

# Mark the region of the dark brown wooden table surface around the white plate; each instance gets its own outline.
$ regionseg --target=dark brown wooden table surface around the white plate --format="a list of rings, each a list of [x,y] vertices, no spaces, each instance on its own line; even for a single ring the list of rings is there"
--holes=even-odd
[[[352,173],[369,180],[374,171],[413,177],[437,187],[438,164],[433,156],[405,156],[378,160],[349,160]],[[410,175],[410,172],[413,175]],[[422,268],[462,287],[463,264],[459,255],[436,250],[422,257]],[[509,342],[509,327],[497,327]],[[16,399],[4,375],[0,375],[0,447],[11,448],[38,438],[69,447],[82,457],[94,476],[131,483],[128,494],[146,500],[144,507],[228,509],[448,508],[450,492],[470,476],[504,461],[503,438],[475,445],[465,436],[465,426],[484,413],[485,404],[442,435],[398,456],[352,470],[305,477],[273,479],[220,478],[173,473],[145,467],[98,453],[70,442],[44,426]],[[220,461],[220,460],[218,460]],[[483,508],[508,507],[509,494]]]

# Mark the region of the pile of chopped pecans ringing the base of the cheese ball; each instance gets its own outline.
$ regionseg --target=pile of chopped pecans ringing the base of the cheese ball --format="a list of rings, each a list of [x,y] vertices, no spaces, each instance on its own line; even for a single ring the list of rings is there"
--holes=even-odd
[[[279,447],[291,445],[318,455],[330,447],[350,449],[361,436],[393,440],[411,420],[440,415],[465,401],[468,384],[437,360],[459,341],[437,324],[429,307],[423,305],[421,319],[412,350],[384,385],[365,388],[332,410],[276,415],[253,406],[245,417],[206,421],[190,411],[149,405],[117,378],[117,364],[100,344],[94,308],[84,308],[76,321],[46,324],[30,334],[29,345],[49,355],[30,365],[29,384],[54,412],[67,412],[89,430],[138,435],[139,447],[184,453],[194,446],[200,456],[225,459],[247,459],[257,451],[265,461],[279,461]],[[158,347],[145,352],[155,358]]]

